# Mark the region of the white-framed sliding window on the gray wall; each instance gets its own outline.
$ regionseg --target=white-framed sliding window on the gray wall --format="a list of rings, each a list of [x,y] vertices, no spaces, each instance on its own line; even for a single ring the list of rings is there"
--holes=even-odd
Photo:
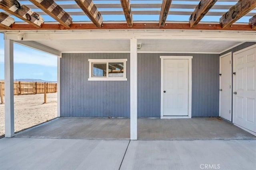
[[[89,81],[126,81],[127,59],[89,59]]]

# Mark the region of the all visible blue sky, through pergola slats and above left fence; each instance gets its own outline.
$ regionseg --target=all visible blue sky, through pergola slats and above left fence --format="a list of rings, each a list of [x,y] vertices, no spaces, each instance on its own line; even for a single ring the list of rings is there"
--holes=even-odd
[[[147,3],[161,3],[162,0],[150,0]],[[58,2],[58,4],[72,4],[74,1]],[[95,1],[95,3],[118,3],[117,1]],[[134,1],[131,3],[145,3],[145,1]],[[180,1],[172,1],[172,4],[182,3]],[[183,2],[188,3],[188,2]],[[26,1],[26,4],[31,4],[31,2]],[[198,1],[189,2],[189,4],[198,4]],[[229,4],[234,5],[236,2],[216,2],[216,4]],[[99,10],[113,10],[113,9],[99,9]],[[122,10],[122,9],[114,9]],[[134,9],[141,10],[141,9]],[[149,10],[159,10],[159,9],[149,9]],[[175,9],[179,10],[179,9]],[[1,10],[0,10],[1,11]],[[36,10],[35,10],[36,11]],[[67,12],[69,10],[66,10]],[[71,11],[74,11],[71,10]],[[192,12],[192,11],[191,11]],[[255,12],[255,10],[253,11]],[[124,15],[102,15],[104,21],[125,21]],[[42,16],[44,21],[55,21],[50,16]],[[190,16],[173,16],[168,15],[167,21],[188,21]],[[72,16],[73,21],[89,21],[87,16]],[[201,21],[212,21],[218,22],[220,16],[205,16]],[[251,17],[242,17],[237,22],[248,23]],[[14,17],[15,21],[22,21]],[[159,20],[158,15],[133,15],[134,21],[157,21]],[[57,80],[57,57],[37,51],[22,45],[14,43],[14,80],[20,78],[33,78],[42,79],[46,81],[56,81]],[[0,33],[0,80],[4,79],[4,35]]]

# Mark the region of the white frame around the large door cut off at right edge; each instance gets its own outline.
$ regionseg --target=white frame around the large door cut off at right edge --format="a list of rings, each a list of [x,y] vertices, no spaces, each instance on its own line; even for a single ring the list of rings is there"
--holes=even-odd
[[[241,50],[239,50],[239,51],[234,52],[234,53],[233,53],[233,59],[234,59],[234,56],[235,56],[236,54],[242,53],[242,52],[244,52],[244,51],[247,51],[247,50],[252,49],[252,48],[255,48],[255,47],[256,47],[256,44],[251,45],[250,47],[247,47],[247,48],[244,48],[244,49],[241,49]],[[234,62],[233,62],[233,72],[234,72],[235,70],[236,70],[236,67],[235,67]],[[235,77],[233,78],[233,89],[235,90]],[[235,98],[234,98],[234,94],[232,94],[232,95],[233,95],[233,101],[232,101],[232,102],[233,102],[233,111],[234,111],[234,109],[235,109]],[[235,117],[235,116],[234,116],[234,114],[233,114],[233,115],[232,115],[232,123],[234,123],[234,117]],[[246,128],[240,126],[240,125],[237,125],[236,123],[234,123],[234,125],[236,125],[236,126],[240,127],[241,129],[243,129],[243,130],[245,130],[245,131],[251,133],[252,135],[255,135],[255,136],[256,136],[256,133],[255,133],[255,132],[250,131],[250,130],[248,130],[248,129],[246,129]]]

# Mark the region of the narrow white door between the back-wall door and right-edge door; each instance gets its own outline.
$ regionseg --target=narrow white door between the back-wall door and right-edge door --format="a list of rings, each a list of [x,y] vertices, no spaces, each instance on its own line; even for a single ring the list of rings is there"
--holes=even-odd
[[[220,57],[220,117],[231,121],[231,53]]]

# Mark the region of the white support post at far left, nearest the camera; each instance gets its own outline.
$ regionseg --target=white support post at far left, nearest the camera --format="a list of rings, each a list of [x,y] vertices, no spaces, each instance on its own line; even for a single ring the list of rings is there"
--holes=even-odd
[[[13,41],[4,40],[5,137],[14,136]]]

